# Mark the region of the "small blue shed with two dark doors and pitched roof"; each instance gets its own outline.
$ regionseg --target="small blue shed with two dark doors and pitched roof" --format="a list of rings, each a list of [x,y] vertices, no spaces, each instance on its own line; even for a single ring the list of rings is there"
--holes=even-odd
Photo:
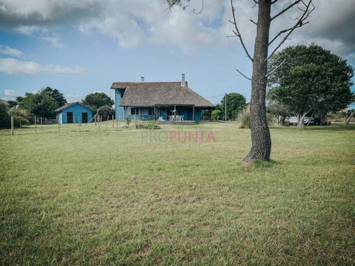
[[[64,106],[55,109],[58,115],[58,123],[87,123],[92,119],[92,112],[90,109],[79,101],[74,103],[65,104]]]

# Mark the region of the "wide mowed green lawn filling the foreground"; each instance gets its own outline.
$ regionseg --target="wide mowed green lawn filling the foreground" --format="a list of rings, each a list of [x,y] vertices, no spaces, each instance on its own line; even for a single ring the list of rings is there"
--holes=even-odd
[[[1,265],[355,264],[354,125],[57,129],[0,131]]]

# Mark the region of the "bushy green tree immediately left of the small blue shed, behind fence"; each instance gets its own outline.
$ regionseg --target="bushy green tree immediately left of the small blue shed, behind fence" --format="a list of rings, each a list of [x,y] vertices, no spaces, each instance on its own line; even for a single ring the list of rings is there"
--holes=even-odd
[[[18,109],[26,109],[38,117],[55,117],[55,109],[59,106],[58,102],[47,94],[26,94]]]

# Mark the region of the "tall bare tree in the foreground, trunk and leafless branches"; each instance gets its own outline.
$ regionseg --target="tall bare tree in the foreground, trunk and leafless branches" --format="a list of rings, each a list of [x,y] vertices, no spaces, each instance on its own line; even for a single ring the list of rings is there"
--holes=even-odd
[[[168,0],[167,3],[169,7],[172,7],[176,4],[181,4],[181,1],[182,0]],[[187,3],[186,6],[188,6],[190,0],[185,0],[185,2]],[[315,9],[315,6],[312,4],[312,0],[295,0],[283,10],[271,16],[271,7],[277,2],[278,0],[253,0],[254,7],[258,6],[258,19],[256,22],[251,20],[252,23],[256,24],[254,52],[253,56],[251,56],[251,53],[246,48],[241,32],[239,31],[238,24],[236,23],[236,10],[234,9],[233,0],[231,0],[231,12],[233,19],[230,22],[234,25],[233,33],[237,38],[239,38],[241,46],[246,52],[246,56],[253,64],[250,105],[252,145],[249,154],[244,157],[244,162],[252,162],[253,160],[259,158],[263,160],[270,160],[271,136],[268,128],[268,121],[266,120],[266,84],[268,81],[268,75],[271,74],[271,72],[267,72],[268,60],[275,54],[278,48],[285,43],[285,40],[288,39],[290,34],[293,33],[296,28],[300,28],[308,23],[307,18]],[[184,6],[184,8],[186,6]],[[300,16],[294,19],[295,23],[293,26],[278,32],[270,41],[269,33],[271,23],[295,6],[297,6],[297,9],[300,11]],[[278,40],[278,38],[282,35],[284,35],[284,37],[277,45],[275,45],[271,52],[268,52],[269,46],[273,45],[275,40]],[[283,63],[284,62],[281,62],[280,65]],[[237,71],[242,74],[239,70]],[[246,77],[245,74],[242,75]],[[246,78],[250,79],[248,77]]]

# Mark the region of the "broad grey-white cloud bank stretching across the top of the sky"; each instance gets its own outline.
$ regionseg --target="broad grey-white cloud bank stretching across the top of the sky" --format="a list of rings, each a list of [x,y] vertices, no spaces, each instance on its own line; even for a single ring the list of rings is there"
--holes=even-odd
[[[293,1],[278,1],[272,6],[272,14]],[[291,38],[300,43],[327,40],[337,45],[332,47],[334,52],[343,46],[342,50],[351,55],[355,50],[354,0],[314,2],[316,9],[310,24],[297,29]],[[256,26],[249,19],[256,21],[258,9],[253,8],[250,0],[234,1],[234,6],[239,29],[252,54]],[[233,27],[229,23],[232,18],[229,0],[204,1],[202,14],[197,15],[195,13],[202,9],[202,0],[190,1],[185,11],[180,7],[166,11],[166,7],[163,0],[0,0],[0,27],[40,38],[56,47],[64,47],[64,44],[55,31],[68,26],[83,34],[99,31],[109,35],[121,48],[150,43],[190,50],[235,44],[236,38],[225,38],[232,35]],[[300,10],[295,6],[275,19],[271,38],[291,26],[294,21],[290,18],[296,18],[297,12]],[[237,47],[242,49],[241,45]]]

